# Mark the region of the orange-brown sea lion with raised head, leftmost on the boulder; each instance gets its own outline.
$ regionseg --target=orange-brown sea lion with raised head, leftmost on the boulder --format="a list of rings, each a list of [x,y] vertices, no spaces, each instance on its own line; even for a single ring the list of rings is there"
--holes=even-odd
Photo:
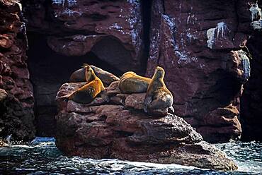
[[[72,94],[60,98],[73,100],[77,103],[89,104],[101,91],[105,90],[102,81],[96,76],[91,66],[84,65],[84,68],[87,82],[86,85],[72,92]]]

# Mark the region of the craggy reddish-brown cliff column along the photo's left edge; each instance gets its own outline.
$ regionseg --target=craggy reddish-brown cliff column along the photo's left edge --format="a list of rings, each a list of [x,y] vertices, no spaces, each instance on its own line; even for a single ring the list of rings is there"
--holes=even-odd
[[[19,4],[0,2],[0,137],[30,140],[33,87],[26,64],[27,38]]]

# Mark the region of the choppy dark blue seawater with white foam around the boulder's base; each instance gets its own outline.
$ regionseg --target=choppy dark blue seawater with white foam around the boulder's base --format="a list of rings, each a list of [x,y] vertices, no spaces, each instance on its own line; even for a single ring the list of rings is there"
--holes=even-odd
[[[0,174],[262,174],[262,143],[238,142],[215,146],[237,162],[238,171],[66,157],[55,146],[54,138],[35,138],[28,145],[0,147]]]

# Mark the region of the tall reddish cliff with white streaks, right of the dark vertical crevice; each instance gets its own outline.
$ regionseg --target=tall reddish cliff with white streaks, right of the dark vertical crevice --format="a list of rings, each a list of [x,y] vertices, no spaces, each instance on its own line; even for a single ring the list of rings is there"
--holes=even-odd
[[[248,53],[255,1],[158,1],[152,4],[147,76],[166,71],[174,109],[205,140],[239,138],[239,97],[250,76]]]

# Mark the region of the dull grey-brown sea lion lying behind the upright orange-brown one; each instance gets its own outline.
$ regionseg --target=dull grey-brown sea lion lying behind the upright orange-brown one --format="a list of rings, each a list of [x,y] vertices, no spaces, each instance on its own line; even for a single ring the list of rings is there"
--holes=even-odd
[[[98,68],[96,66],[90,66],[93,71],[96,73],[96,76],[101,79],[104,85],[108,86],[110,85],[113,81],[119,80],[117,76],[114,76],[113,73],[109,73],[108,71],[104,71],[101,68]],[[80,68],[77,71],[74,71],[72,75],[69,78],[69,82],[84,82],[86,81],[85,77],[85,68]]]

